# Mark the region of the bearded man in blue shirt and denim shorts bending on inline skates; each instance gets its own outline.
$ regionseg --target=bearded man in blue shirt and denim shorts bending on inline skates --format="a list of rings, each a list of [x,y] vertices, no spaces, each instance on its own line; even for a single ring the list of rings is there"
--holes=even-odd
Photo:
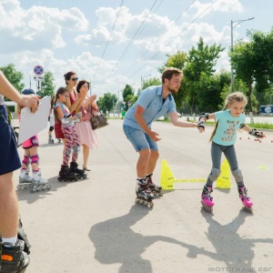
[[[154,195],[162,195],[162,188],[152,181],[159,157],[157,141],[160,140],[157,132],[151,128],[152,122],[167,114],[174,126],[198,126],[195,123],[178,120],[172,94],[178,92],[182,78],[183,73],[180,69],[167,67],[162,73],[162,86],[147,87],[126,112],[123,129],[139,154],[136,163],[136,203],[152,207]]]

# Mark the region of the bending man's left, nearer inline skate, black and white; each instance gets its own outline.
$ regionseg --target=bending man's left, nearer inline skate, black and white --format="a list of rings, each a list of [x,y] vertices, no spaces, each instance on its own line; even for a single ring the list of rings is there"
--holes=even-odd
[[[136,179],[136,200],[135,204],[139,203],[147,207],[154,207],[154,196],[148,188],[147,179]]]

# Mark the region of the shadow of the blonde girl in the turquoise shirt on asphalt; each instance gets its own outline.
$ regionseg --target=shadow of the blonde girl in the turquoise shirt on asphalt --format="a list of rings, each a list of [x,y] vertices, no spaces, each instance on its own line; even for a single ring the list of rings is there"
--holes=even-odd
[[[206,235],[216,252],[202,251],[203,253],[200,254],[225,262],[227,268],[252,268],[252,259],[255,257],[252,249],[254,244],[273,244],[272,238],[242,238],[239,236],[239,227],[243,226],[246,217],[252,216],[244,208],[239,211],[238,217],[223,226],[203,209],[201,214],[209,224]]]

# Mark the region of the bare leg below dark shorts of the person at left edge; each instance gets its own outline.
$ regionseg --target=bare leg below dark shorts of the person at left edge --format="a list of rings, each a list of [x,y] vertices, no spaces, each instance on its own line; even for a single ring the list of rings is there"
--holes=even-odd
[[[8,173],[0,176],[0,231],[3,238],[17,236],[18,214],[13,173]]]

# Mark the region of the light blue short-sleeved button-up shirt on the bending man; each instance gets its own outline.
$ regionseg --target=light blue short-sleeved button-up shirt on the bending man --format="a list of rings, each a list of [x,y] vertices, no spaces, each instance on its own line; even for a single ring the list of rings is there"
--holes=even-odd
[[[170,94],[163,104],[162,86],[147,87],[140,93],[136,103],[128,109],[123,123],[125,126],[130,126],[142,131],[143,129],[139,126],[135,118],[136,106],[141,106],[145,109],[143,117],[149,128],[151,128],[152,122],[157,120],[160,116],[177,112],[175,100]]]

